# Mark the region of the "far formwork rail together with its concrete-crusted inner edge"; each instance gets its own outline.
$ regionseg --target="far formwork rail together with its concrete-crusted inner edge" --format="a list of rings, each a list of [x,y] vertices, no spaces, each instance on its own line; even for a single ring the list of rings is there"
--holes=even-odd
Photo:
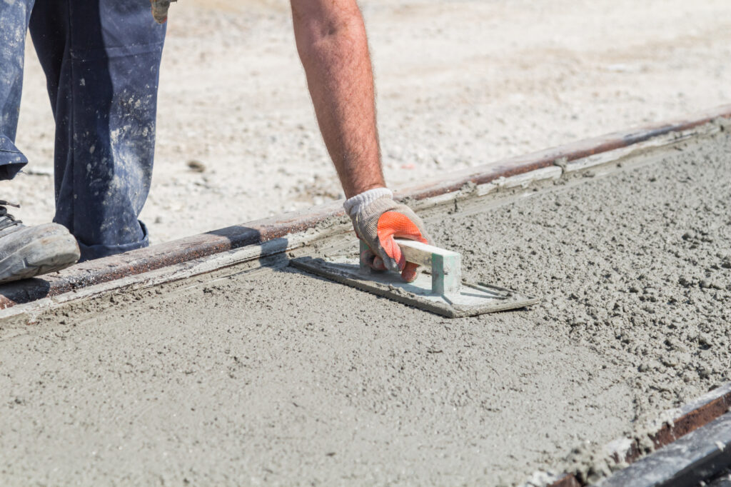
[[[731,118],[731,105],[716,107],[681,120],[613,132],[602,137],[449,173],[424,184],[404,186],[396,191],[396,197],[412,202],[417,209],[423,209],[460,197],[480,197],[494,190],[525,187],[534,181],[561,177],[569,172],[572,162],[594,157],[588,163],[585,161],[585,165],[595,167],[647,147],[648,144],[657,147],[708,135],[712,133],[713,127],[707,126],[703,129],[701,126],[719,118]],[[604,156],[596,157],[600,154]],[[0,310],[240,247],[260,245],[287,235],[306,233],[308,229],[341,216],[344,217],[341,202],[328,203],[305,211],[233,225],[146,249],[92,260],[39,278],[4,284],[0,286]],[[345,225],[342,225],[341,231],[345,231]],[[321,237],[322,235],[318,235],[318,238]]]

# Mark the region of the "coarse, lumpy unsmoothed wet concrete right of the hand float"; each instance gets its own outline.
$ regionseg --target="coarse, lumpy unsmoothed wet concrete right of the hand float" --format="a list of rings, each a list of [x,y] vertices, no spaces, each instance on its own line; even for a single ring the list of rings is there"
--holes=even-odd
[[[728,137],[716,141],[467,224],[490,249],[474,254],[467,275],[517,278],[545,298],[537,324],[629,354],[635,387],[657,392],[637,401],[638,418],[656,414],[659,397],[680,404],[688,385],[702,391],[729,377],[731,178]]]

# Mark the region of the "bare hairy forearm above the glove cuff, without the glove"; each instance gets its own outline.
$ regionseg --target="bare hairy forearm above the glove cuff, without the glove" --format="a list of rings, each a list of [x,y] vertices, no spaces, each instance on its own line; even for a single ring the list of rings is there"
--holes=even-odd
[[[346,197],[385,186],[371,57],[355,0],[292,0],[292,14],[317,121]]]

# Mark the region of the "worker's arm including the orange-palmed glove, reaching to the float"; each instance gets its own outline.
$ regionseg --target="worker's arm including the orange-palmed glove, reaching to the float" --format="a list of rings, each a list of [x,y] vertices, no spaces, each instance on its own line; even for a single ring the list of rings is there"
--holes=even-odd
[[[377,270],[416,277],[394,238],[428,243],[423,222],[393,201],[381,167],[373,70],[363,16],[355,0],[291,0],[297,48],[317,122],[347,198],[361,258]]]

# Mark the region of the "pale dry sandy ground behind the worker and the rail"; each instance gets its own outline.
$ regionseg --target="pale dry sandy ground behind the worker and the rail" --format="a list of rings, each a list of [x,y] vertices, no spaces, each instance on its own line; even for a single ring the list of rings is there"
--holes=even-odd
[[[393,185],[731,100],[727,0],[361,4]],[[341,195],[287,2],[183,0],[169,34],[143,211],[152,241]],[[32,48],[27,64],[18,146],[45,175],[0,189],[37,223],[53,216],[53,123]]]

